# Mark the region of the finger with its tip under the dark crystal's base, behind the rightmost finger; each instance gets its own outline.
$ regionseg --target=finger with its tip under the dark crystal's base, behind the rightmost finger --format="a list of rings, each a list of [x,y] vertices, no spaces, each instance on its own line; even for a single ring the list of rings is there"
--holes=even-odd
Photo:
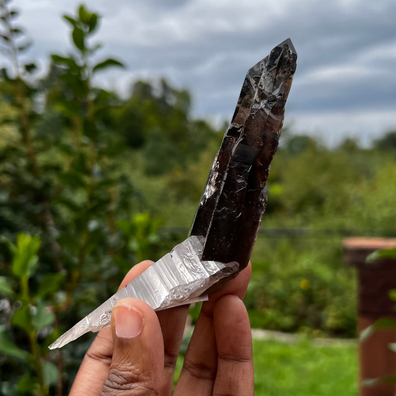
[[[217,371],[217,350],[213,328],[213,308],[221,297],[233,294],[243,298],[251,274],[251,264],[202,304],[197,324],[184,358],[175,395],[211,395]]]

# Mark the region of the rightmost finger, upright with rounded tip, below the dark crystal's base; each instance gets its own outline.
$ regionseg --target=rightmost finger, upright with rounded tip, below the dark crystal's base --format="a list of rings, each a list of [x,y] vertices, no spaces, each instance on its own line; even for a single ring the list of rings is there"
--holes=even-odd
[[[251,330],[243,301],[233,295],[217,300],[213,324],[218,355],[213,394],[254,395]]]

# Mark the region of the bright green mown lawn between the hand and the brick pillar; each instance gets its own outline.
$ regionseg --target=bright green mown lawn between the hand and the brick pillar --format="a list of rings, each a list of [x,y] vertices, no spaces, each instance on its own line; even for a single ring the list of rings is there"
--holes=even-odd
[[[255,396],[356,396],[355,345],[253,340]],[[182,358],[177,364],[180,372]]]

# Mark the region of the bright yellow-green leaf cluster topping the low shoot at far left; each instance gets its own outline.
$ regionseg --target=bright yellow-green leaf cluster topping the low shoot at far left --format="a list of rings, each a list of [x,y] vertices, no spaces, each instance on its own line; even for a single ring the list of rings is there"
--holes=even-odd
[[[11,271],[18,278],[30,278],[37,269],[37,252],[41,246],[40,237],[37,235],[18,234],[16,249],[12,258]]]

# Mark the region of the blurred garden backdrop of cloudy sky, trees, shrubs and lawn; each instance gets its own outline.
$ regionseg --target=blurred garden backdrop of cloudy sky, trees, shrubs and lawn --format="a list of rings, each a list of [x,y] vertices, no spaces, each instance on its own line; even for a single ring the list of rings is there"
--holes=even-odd
[[[342,240],[396,234],[395,14],[393,0],[0,0],[0,394],[67,394],[93,335],[48,345],[186,238],[247,69],[291,37],[245,303],[253,328],[297,341],[254,341],[256,394],[355,395],[353,341],[310,340],[355,337]]]

